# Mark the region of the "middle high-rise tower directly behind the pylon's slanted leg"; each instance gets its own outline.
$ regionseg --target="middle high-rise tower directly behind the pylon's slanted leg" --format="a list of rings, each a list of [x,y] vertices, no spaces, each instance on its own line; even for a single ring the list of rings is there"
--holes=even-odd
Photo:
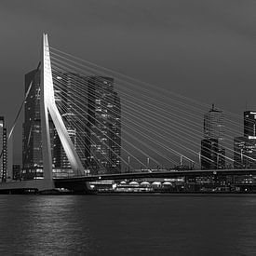
[[[84,168],[87,167],[86,130],[88,125],[88,84],[87,77],[74,74],[63,73],[53,77],[59,88],[55,90],[57,106],[61,111],[61,117],[67,128],[69,136],[74,143]],[[77,93],[79,91],[79,94]],[[61,145],[61,140],[55,131],[53,164],[55,168],[71,169],[71,165]]]

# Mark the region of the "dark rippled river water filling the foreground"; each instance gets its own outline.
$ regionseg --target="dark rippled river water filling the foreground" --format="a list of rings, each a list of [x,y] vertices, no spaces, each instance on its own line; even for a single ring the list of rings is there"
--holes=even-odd
[[[0,255],[256,255],[256,195],[0,195]]]

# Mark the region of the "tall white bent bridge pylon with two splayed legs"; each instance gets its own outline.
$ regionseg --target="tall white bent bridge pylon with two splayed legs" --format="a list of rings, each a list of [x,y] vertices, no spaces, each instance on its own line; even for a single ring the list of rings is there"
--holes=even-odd
[[[47,34],[43,34],[40,90],[40,115],[42,128],[44,178],[50,181],[52,180],[52,156],[48,115],[50,115],[52,118],[54,126],[60,137],[62,147],[70,162],[71,168],[74,171],[74,175],[79,175],[82,173],[84,168],[79,156],[74,149],[73,141],[71,141],[68,131],[65,128],[54,98]]]

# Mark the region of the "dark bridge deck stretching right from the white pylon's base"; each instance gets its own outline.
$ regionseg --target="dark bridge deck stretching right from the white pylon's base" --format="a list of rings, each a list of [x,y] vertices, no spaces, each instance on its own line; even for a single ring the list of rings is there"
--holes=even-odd
[[[250,169],[207,169],[207,170],[164,170],[164,171],[143,171],[116,174],[87,175],[72,178],[55,178],[54,183],[57,188],[72,187],[84,182],[94,181],[120,181],[142,178],[177,178],[196,176],[228,176],[228,175],[256,175],[256,168]]]

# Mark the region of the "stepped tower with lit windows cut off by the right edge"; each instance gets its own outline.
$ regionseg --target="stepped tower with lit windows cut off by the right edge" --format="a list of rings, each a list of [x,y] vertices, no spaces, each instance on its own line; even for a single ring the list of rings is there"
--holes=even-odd
[[[256,168],[256,112],[244,112],[244,136],[234,138],[234,168]]]

